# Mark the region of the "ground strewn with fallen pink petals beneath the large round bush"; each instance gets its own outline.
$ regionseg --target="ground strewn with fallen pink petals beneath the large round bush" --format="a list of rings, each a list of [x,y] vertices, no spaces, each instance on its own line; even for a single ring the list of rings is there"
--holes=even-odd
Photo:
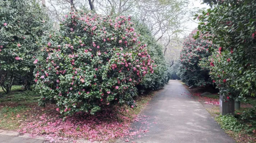
[[[146,99],[145,99],[146,98]],[[101,112],[76,113],[65,119],[54,110],[31,116],[21,123],[20,133],[31,133],[31,137],[44,136],[50,142],[83,138],[90,141],[114,141],[118,138],[145,134],[147,129],[130,132],[132,122],[145,122],[151,117],[138,117],[138,112],[147,104],[151,97],[140,97],[137,108],[127,106],[105,107]],[[42,109],[44,110],[44,109]]]

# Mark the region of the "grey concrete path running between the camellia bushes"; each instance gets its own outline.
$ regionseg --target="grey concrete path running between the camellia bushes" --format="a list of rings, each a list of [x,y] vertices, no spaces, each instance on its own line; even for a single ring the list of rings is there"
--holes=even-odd
[[[128,138],[129,142],[235,143],[201,103],[184,93],[189,92],[178,80],[170,80],[140,113],[140,116],[152,117],[146,121],[150,125],[132,124],[133,130],[148,129],[149,132],[141,134],[140,138],[138,135]],[[125,142],[125,139],[118,142]]]

